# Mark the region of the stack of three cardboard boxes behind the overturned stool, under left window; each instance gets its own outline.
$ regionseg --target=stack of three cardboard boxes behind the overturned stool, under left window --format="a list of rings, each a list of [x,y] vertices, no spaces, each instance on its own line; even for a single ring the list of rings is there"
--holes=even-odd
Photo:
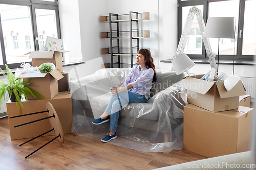
[[[30,82],[28,87],[44,95],[45,99],[28,96],[28,100],[22,100],[24,108],[19,107],[20,115],[46,110],[46,103],[50,102],[56,110],[63,133],[71,133],[72,127],[72,102],[68,89],[68,74],[63,73],[61,51],[31,52],[33,67],[42,63],[53,63],[56,70],[49,73],[27,73],[20,75],[24,81]],[[11,140],[35,137],[52,129],[49,119],[41,120],[25,126],[14,128],[15,125],[30,122],[32,120],[47,117],[47,112],[17,118],[9,118],[18,115],[15,102],[7,102],[7,114]],[[54,135],[50,132],[46,135]]]

